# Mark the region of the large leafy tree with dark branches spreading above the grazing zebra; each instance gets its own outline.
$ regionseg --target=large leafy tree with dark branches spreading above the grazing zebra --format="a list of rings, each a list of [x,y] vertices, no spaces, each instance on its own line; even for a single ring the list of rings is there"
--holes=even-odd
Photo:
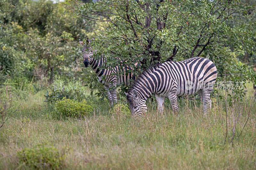
[[[70,0],[65,8],[97,25],[91,25],[96,34],[92,46],[97,56],[108,57],[106,66],[133,66],[140,61],[145,69],[156,62],[201,56],[213,60],[222,76],[235,80],[243,75],[243,81],[255,81],[231,55],[234,51],[255,54],[255,22],[227,24],[230,19],[250,18],[247,11],[252,6],[241,0],[99,0],[90,4]],[[123,62],[112,60],[113,56]]]

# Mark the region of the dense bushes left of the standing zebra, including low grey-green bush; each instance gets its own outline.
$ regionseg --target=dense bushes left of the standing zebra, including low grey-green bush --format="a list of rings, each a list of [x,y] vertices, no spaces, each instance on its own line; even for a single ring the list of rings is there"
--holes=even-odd
[[[48,88],[49,101],[84,99],[84,83],[76,73],[81,71],[76,41],[92,34],[89,25],[47,0],[3,0],[0,11],[0,92],[24,99]],[[56,88],[55,75],[61,77],[59,84],[73,81]]]

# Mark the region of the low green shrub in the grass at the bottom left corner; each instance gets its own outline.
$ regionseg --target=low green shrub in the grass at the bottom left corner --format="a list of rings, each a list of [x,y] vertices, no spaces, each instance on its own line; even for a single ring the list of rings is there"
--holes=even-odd
[[[24,148],[17,152],[20,164],[36,169],[60,169],[67,149],[57,150],[53,146],[35,145],[33,148]]]

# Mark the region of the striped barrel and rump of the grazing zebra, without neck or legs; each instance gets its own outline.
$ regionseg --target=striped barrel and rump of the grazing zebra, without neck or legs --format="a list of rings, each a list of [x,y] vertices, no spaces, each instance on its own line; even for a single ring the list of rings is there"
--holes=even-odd
[[[180,62],[165,62],[159,67],[162,70],[164,91],[169,91],[170,83],[176,83],[177,96],[197,93],[200,89],[210,89],[217,79],[217,68],[206,58],[195,57]],[[160,71],[161,72],[161,71]],[[161,91],[161,92],[164,92]]]

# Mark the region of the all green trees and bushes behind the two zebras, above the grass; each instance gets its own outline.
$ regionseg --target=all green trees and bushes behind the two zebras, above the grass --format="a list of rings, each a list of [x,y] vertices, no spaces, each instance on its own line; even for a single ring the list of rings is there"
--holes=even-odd
[[[0,91],[26,98],[27,93],[47,87],[46,101],[54,103],[63,97],[82,101],[89,96],[85,85],[91,89],[90,96],[103,99],[106,95],[97,76],[91,68],[81,69],[82,60],[78,60],[82,54],[78,40],[94,38],[95,56],[108,57],[105,66],[133,66],[139,61],[142,68],[135,74],[156,62],[209,58],[219,74],[214,94],[220,96],[220,89],[228,89],[231,96],[244,96],[245,81],[255,82],[250,70],[256,64],[256,10],[250,6],[254,4],[253,0],[66,0],[56,4],[2,0]],[[116,56],[123,62],[113,60]],[[60,78],[54,80],[56,75]],[[67,89],[70,79],[78,84]],[[65,88],[55,88],[54,82],[60,81]]]

